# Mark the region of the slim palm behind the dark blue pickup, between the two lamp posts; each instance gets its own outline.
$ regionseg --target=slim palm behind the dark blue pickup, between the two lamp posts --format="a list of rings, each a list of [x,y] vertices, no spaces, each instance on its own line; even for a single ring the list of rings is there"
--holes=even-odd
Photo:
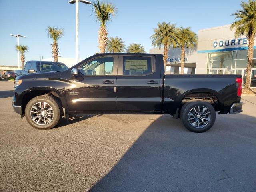
[[[60,37],[63,36],[63,29],[54,27],[54,26],[48,26],[46,29],[47,35],[50,39],[53,40],[52,42],[52,57],[54,58],[55,62],[58,62],[58,54],[59,54],[59,48],[58,48],[58,40]]]

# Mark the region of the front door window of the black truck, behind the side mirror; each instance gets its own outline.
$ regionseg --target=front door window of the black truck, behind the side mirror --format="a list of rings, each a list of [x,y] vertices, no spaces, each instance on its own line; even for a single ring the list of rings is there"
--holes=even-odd
[[[113,64],[113,57],[100,57],[82,65],[79,72],[84,76],[112,75]]]

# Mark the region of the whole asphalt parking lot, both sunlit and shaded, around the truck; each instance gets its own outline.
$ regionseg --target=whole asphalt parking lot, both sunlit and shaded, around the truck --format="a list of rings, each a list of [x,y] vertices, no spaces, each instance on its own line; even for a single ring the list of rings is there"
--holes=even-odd
[[[256,97],[196,134],[170,115],[88,115],[37,130],[0,81],[0,191],[256,191]]]

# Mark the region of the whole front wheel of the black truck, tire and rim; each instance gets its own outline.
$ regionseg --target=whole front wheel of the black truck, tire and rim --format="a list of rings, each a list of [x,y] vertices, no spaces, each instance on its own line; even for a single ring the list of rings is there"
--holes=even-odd
[[[62,117],[61,106],[52,96],[37,96],[28,102],[25,116],[34,128],[51,129]]]

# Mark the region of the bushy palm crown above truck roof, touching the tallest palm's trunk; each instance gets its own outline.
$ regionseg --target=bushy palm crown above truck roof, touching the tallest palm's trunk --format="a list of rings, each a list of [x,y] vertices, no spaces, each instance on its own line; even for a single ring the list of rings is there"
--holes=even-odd
[[[122,38],[110,37],[106,48],[107,48],[107,52],[110,52],[110,53],[124,52],[125,51],[124,41],[122,41]]]

